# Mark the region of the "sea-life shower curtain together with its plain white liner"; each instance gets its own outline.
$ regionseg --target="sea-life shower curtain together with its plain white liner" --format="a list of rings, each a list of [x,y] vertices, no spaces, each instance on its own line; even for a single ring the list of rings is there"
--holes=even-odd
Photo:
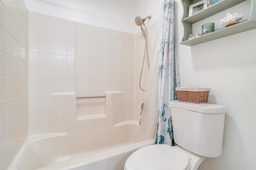
[[[174,146],[169,103],[176,100],[179,86],[174,44],[174,0],[164,0],[159,17],[152,64],[148,72],[140,141]]]

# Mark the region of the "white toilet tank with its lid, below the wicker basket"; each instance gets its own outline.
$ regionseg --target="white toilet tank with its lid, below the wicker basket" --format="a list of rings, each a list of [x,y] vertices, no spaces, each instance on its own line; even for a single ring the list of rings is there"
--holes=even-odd
[[[226,106],[174,100],[170,111],[175,143],[201,156],[221,155]]]

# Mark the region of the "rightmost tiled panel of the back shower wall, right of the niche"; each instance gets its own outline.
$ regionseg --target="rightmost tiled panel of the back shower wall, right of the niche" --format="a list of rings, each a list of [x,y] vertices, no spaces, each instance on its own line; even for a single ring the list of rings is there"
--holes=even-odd
[[[122,112],[112,111],[112,119],[134,119],[134,35],[108,29],[106,59],[106,91],[122,91],[122,98],[112,94],[112,108],[122,107]]]

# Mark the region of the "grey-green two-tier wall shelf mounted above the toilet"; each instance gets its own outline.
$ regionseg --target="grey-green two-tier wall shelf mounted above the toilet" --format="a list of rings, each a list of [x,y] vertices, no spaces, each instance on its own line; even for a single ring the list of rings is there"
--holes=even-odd
[[[195,1],[190,0],[182,0],[183,4],[183,18],[182,18],[182,24],[184,26],[184,36],[182,38],[182,42],[180,44],[187,45],[187,46],[193,46],[200,43],[204,43],[207,41],[212,41],[215,39],[219,39],[222,37],[226,37],[229,35],[234,35],[236,33],[241,33],[244,31],[248,31],[251,29],[256,28],[256,10],[254,9],[256,7],[256,1],[251,0],[251,8],[249,14],[249,19],[246,21],[243,21],[241,23],[238,23],[236,25],[232,25],[230,27],[225,27],[222,29],[218,29],[214,32],[202,35],[200,37],[196,37],[190,40],[188,39],[188,34],[192,33],[192,24],[196,23],[198,21],[204,20],[214,14],[218,14],[219,12],[222,12],[223,10],[226,10],[228,8],[231,8],[232,6],[235,6],[237,4],[240,4],[241,2],[244,2],[246,0],[221,0],[220,2],[188,17],[188,9],[191,4],[194,4]]]

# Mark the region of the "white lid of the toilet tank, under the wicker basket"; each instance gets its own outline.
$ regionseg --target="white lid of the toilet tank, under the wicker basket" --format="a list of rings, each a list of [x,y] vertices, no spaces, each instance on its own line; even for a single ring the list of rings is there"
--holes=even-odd
[[[210,104],[210,103],[195,104],[195,103],[188,103],[188,102],[179,102],[178,100],[171,101],[170,107],[196,111],[199,113],[226,113],[227,112],[226,106],[222,106],[218,104]]]

